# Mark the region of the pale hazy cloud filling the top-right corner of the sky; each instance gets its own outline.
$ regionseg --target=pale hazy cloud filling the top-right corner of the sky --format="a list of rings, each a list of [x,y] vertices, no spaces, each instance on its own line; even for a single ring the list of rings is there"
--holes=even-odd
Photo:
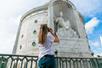
[[[94,12],[100,11],[102,7],[102,0],[70,0],[74,3],[78,11],[80,11],[83,15],[91,15]],[[94,12],[93,12],[94,11]]]

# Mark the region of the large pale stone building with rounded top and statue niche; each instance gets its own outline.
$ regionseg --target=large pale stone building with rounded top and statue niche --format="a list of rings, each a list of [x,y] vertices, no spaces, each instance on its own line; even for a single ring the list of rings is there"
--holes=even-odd
[[[43,23],[59,35],[60,43],[54,44],[56,56],[91,56],[83,18],[68,0],[51,0],[26,12],[20,20],[13,54],[38,56],[37,37]]]

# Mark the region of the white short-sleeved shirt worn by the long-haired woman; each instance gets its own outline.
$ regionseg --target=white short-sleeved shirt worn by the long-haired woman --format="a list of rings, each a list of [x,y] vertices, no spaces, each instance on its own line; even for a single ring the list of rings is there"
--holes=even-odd
[[[53,49],[53,42],[54,42],[54,36],[48,32],[47,39],[45,40],[44,44],[38,44],[39,46],[39,59],[43,57],[46,54],[54,55],[54,49]]]

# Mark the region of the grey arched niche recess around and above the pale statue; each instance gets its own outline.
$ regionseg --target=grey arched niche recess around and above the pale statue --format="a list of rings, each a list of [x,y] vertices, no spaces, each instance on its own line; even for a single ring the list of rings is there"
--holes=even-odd
[[[53,25],[54,28],[54,21],[56,18],[58,17],[62,17],[62,19],[64,20],[63,23],[61,23],[61,25],[67,25],[69,24],[68,21],[70,22],[70,27],[76,31],[76,34],[79,37],[79,33],[78,33],[78,28],[77,28],[77,23],[76,23],[76,17],[74,14],[74,8],[73,5],[68,3],[67,1],[54,1],[50,4],[49,6],[49,23],[51,23],[50,25]]]

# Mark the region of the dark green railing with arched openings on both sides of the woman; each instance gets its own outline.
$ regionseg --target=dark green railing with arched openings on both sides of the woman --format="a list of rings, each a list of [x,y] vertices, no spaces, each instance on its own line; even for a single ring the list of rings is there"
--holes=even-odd
[[[38,68],[37,56],[0,54],[0,68]],[[55,57],[56,68],[102,68],[102,58]]]

